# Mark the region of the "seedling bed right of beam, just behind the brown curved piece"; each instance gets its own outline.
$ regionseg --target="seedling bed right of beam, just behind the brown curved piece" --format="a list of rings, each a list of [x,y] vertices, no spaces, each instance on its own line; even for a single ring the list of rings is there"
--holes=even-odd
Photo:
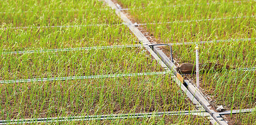
[[[168,46],[159,48],[170,58]],[[182,63],[195,63],[195,44],[173,45],[172,52],[176,66]],[[236,68],[250,68],[254,67],[256,63],[254,53],[256,53],[255,39],[199,44],[200,63],[213,62]]]

